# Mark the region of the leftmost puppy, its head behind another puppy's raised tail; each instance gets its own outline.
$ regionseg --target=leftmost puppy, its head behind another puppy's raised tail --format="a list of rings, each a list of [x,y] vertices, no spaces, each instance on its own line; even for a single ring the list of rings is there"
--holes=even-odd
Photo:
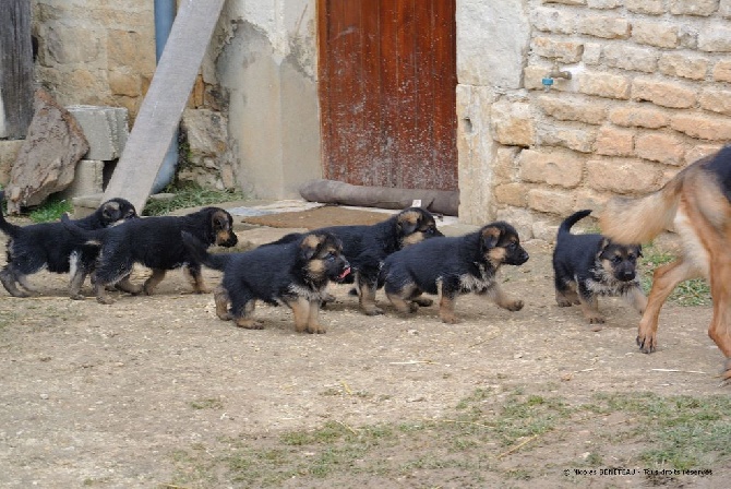
[[[0,202],[3,192],[0,191]],[[93,214],[74,220],[82,229],[103,229],[134,219],[134,205],[124,199],[103,203]],[[0,282],[15,297],[27,297],[35,288],[27,276],[40,270],[53,273],[71,272],[69,294],[72,299],[83,299],[81,287],[94,269],[99,247],[86,246],[69,232],[61,223],[40,223],[16,226],[5,220],[0,208],[0,230],[8,236],[8,264],[0,271]],[[25,290],[17,288],[21,285]],[[27,290],[27,291],[26,291]]]

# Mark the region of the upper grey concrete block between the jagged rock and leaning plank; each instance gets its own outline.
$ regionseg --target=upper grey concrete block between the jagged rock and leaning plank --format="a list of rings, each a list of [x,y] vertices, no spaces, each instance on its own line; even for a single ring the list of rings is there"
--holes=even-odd
[[[125,108],[74,105],[67,109],[88,141],[89,150],[84,158],[108,162],[121,156],[129,136]]]

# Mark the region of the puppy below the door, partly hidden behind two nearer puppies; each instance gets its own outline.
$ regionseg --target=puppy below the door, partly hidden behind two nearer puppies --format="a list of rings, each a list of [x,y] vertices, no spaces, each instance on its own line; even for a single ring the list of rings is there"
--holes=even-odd
[[[436,229],[434,216],[420,207],[408,207],[372,226],[331,226],[316,231],[332,232],[343,241],[343,254],[353,271],[346,283],[355,282],[360,309],[368,315],[383,313],[383,310],[375,305],[375,291],[379,272],[385,258],[409,244],[444,236]],[[299,239],[301,235],[291,234],[275,243]],[[325,294],[323,300],[329,302],[334,298]],[[424,305],[428,305],[428,300],[422,299]]]

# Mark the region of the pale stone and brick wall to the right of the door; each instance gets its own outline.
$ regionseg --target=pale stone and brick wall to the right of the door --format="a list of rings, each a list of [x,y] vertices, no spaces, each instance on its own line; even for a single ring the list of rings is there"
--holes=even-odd
[[[562,216],[656,190],[731,140],[731,0],[457,4],[465,35],[467,7],[500,12],[516,33],[506,52],[525,59],[502,57],[502,71],[522,69],[519,83],[500,73],[476,80],[468,73],[479,70],[460,62],[460,177],[482,178],[460,178],[462,220],[511,218],[528,237],[551,239]],[[507,28],[478,34],[483,56]],[[553,60],[572,79],[546,92]]]

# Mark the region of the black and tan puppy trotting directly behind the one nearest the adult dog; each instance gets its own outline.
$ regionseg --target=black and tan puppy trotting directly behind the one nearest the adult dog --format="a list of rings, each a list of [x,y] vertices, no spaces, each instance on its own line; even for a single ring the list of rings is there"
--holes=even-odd
[[[414,299],[422,293],[439,296],[439,317],[455,323],[457,296],[488,295],[510,311],[523,301],[510,298],[495,279],[501,265],[522,265],[528,253],[513,226],[496,222],[457,238],[438,238],[405,248],[388,257],[381,272],[386,296],[399,312],[415,312]]]

